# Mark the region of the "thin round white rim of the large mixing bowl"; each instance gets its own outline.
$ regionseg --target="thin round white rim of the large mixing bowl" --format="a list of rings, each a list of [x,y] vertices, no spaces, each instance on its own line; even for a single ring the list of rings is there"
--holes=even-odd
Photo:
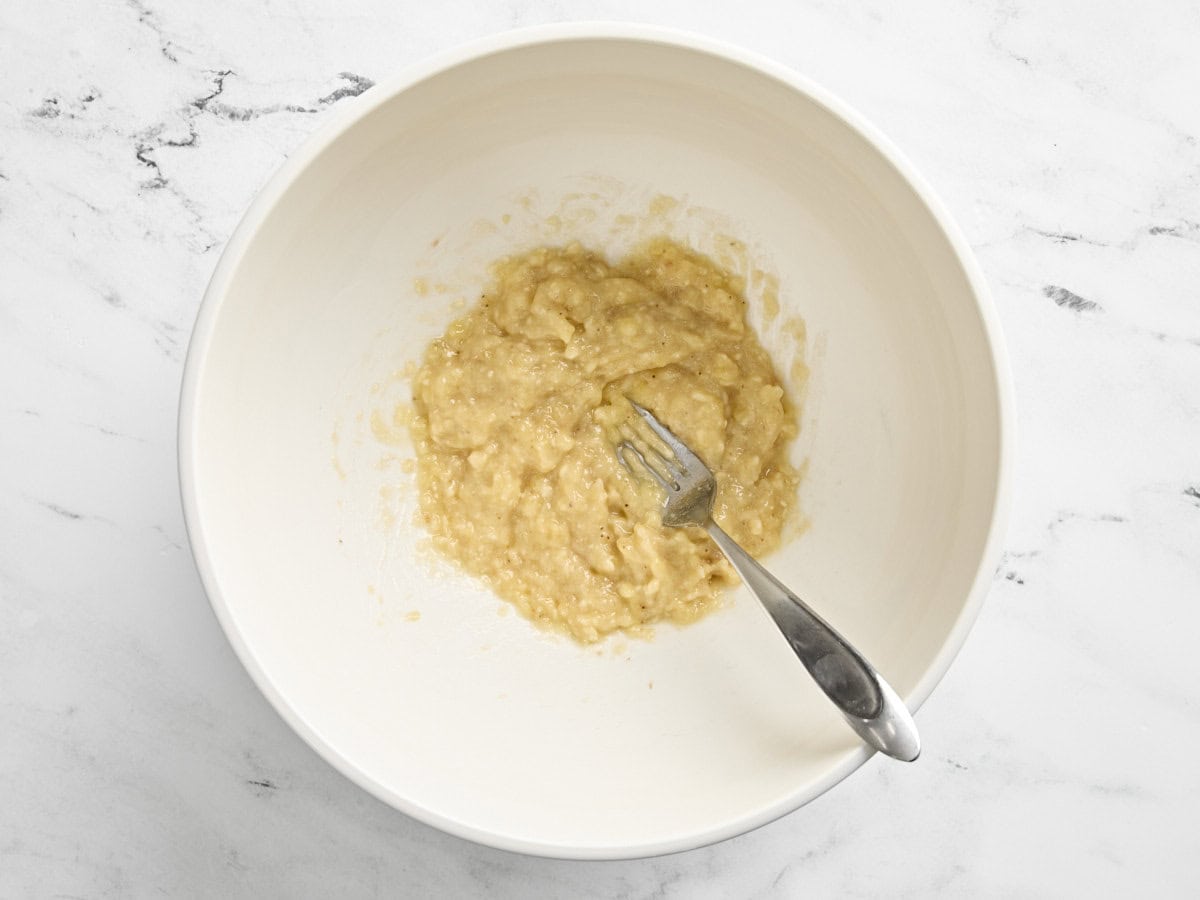
[[[184,374],[180,384],[178,419],[178,464],[179,488],[182,503],[184,524],[196,562],[205,595],[216,614],[226,638],[229,641],[241,665],[251,679],[263,692],[275,712],[307,743],[325,762],[342,775],[401,812],[446,832],[457,838],[497,847],[499,850],[526,853],[530,856],[559,859],[634,859],[677,853],[716,844],[730,838],[745,834],[768,822],[792,812],[810,800],[820,797],[839,781],[858,769],[874,751],[868,748],[856,748],[846,754],[822,778],[803,785],[775,803],[754,810],[742,816],[724,821],[704,829],[676,834],[661,840],[635,845],[571,846],[540,840],[528,840],[503,833],[491,832],[444,816],[432,809],[396,793],[376,781],[354,762],[343,757],[330,746],[307,721],[293,709],[276,689],[271,677],[260,666],[253,648],[238,630],[230,607],[217,583],[215,569],[209,553],[203,523],[198,510],[198,492],[196,481],[196,418],[198,397],[204,380],[205,362],[214,329],[228,292],[247,247],[257,236],[263,222],[295,178],[316,160],[334,140],[352,125],[372,110],[383,106],[401,91],[433,78],[456,66],[505,53],[514,49],[542,43],[564,43],[575,41],[614,41],[664,44],[674,48],[694,50],[715,56],[725,62],[744,66],[760,74],[772,78],[791,88],[823,107],[840,119],[852,131],[870,143],[887,162],[893,166],[904,180],[912,187],[925,208],[934,216],[942,233],[966,275],[971,293],[974,296],[984,335],[991,354],[992,388],[997,397],[998,409],[998,446],[997,478],[992,496],[991,521],[984,541],[983,554],[976,576],[972,580],[962,610],[947,635],[937,655],[930,662],[917,685],[905,697],[908,708],[916,713],[929,698],[934,688],[942,680],[950,664],[958,656],[967,634],[983,608],[1007,532],[1012,506],[1012,467],[1015,449],[1015,410],[1012,371],[1004,346],[1000,317],[995,310],[983,272],[976,260],[966,238],[950,217],[947,208],[938,199],[925,179],[917,172],[907,157],[881,131],[871,125],[862,114],[838,98],[832,92],[816,84],[798,71],[762,54],[743,49],[736,44],[678,29],[661,28],[620,22],[572,22],[547,25],[534,25],[480,37],[450,49],[442,50],[415,64],[407,66],[370,90],[338,104],[329,119],[317,131],[296,148],[283,164],[271,175],[265,186],[256,194],[250,206],[242,214],[233,234],[222,250],[212,276],[200,301],[192,335],[188,341],[187,355],[184,362]]]

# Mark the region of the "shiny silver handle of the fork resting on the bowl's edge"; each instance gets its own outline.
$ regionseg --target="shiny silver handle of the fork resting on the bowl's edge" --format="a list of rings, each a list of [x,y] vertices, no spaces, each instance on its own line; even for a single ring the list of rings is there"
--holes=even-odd
[[[709,520],[706,528],[850,727],[888,756],[916,760],[920,755],[917,724],[882,676],[720,526]]]

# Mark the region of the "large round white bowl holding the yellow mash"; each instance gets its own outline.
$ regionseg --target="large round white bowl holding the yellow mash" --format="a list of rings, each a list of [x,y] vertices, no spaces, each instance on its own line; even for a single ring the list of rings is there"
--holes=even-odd
[[[412,476],[385,458],[402,438],[372,437],[406,391],[392,373],[492,258],[655,230],[713,253],[737,235],[751,294],[755,266],[779,276],[780,319],[755,320],[781,368],[780,322],[806,322],[810,526],[768,563],[912,708],[997,562],[1013,416],[995,314],[941,205],[841,102],[739,50],[612,25],[503,35],[385,82],[293,155],[221,258],[184,379],[184,508],[280,714],[377,797],[484,844],[684,850],[868,758],[742,592],[588,649],[504,616],[422,550]]]

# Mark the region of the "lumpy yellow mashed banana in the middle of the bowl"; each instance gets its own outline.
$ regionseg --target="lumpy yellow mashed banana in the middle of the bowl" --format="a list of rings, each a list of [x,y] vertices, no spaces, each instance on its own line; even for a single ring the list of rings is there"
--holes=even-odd
[[[692,622],[737,575],[613,446],[650,409],[716,475],[751,554],[792,512],[796,412],[740,280],[665,241],[617,264],[578,245],[502,260],[413,383],[420,516],[436,546],[539,624],[592,642]]]

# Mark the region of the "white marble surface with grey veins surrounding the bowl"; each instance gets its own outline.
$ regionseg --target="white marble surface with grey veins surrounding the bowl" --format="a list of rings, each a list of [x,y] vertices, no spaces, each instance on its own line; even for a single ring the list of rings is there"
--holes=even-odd
[[[586,18],[744,44],[888,132],[989,277],[1020,434],[1008,552],[919,764],[582,864],[406,818],[283,725],[192,568],[174,425],[222,241],[341,97]],[[5,0],[0,895],[1194,895],[1198,97],[1190,0]]]

